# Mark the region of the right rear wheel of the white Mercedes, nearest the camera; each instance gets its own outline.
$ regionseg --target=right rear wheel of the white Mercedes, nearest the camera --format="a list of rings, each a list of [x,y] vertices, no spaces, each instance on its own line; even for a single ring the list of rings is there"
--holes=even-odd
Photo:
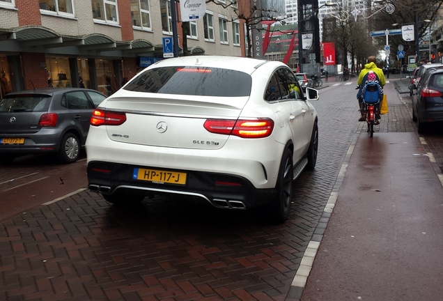
[[[289,148],[281,157],[279,176],[277,178],[277,196],[271,203],[270,213],[274,222],[284,222],[288,219],[290,211],[290,203],[293,198],[293,153]]]

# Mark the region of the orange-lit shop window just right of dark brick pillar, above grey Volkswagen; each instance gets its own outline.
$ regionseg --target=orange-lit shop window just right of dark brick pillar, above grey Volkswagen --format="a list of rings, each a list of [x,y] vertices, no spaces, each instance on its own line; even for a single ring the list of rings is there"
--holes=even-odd
[[[47,56],[46,69],[49,87],[63,88],[72,86],[68,58]]]

